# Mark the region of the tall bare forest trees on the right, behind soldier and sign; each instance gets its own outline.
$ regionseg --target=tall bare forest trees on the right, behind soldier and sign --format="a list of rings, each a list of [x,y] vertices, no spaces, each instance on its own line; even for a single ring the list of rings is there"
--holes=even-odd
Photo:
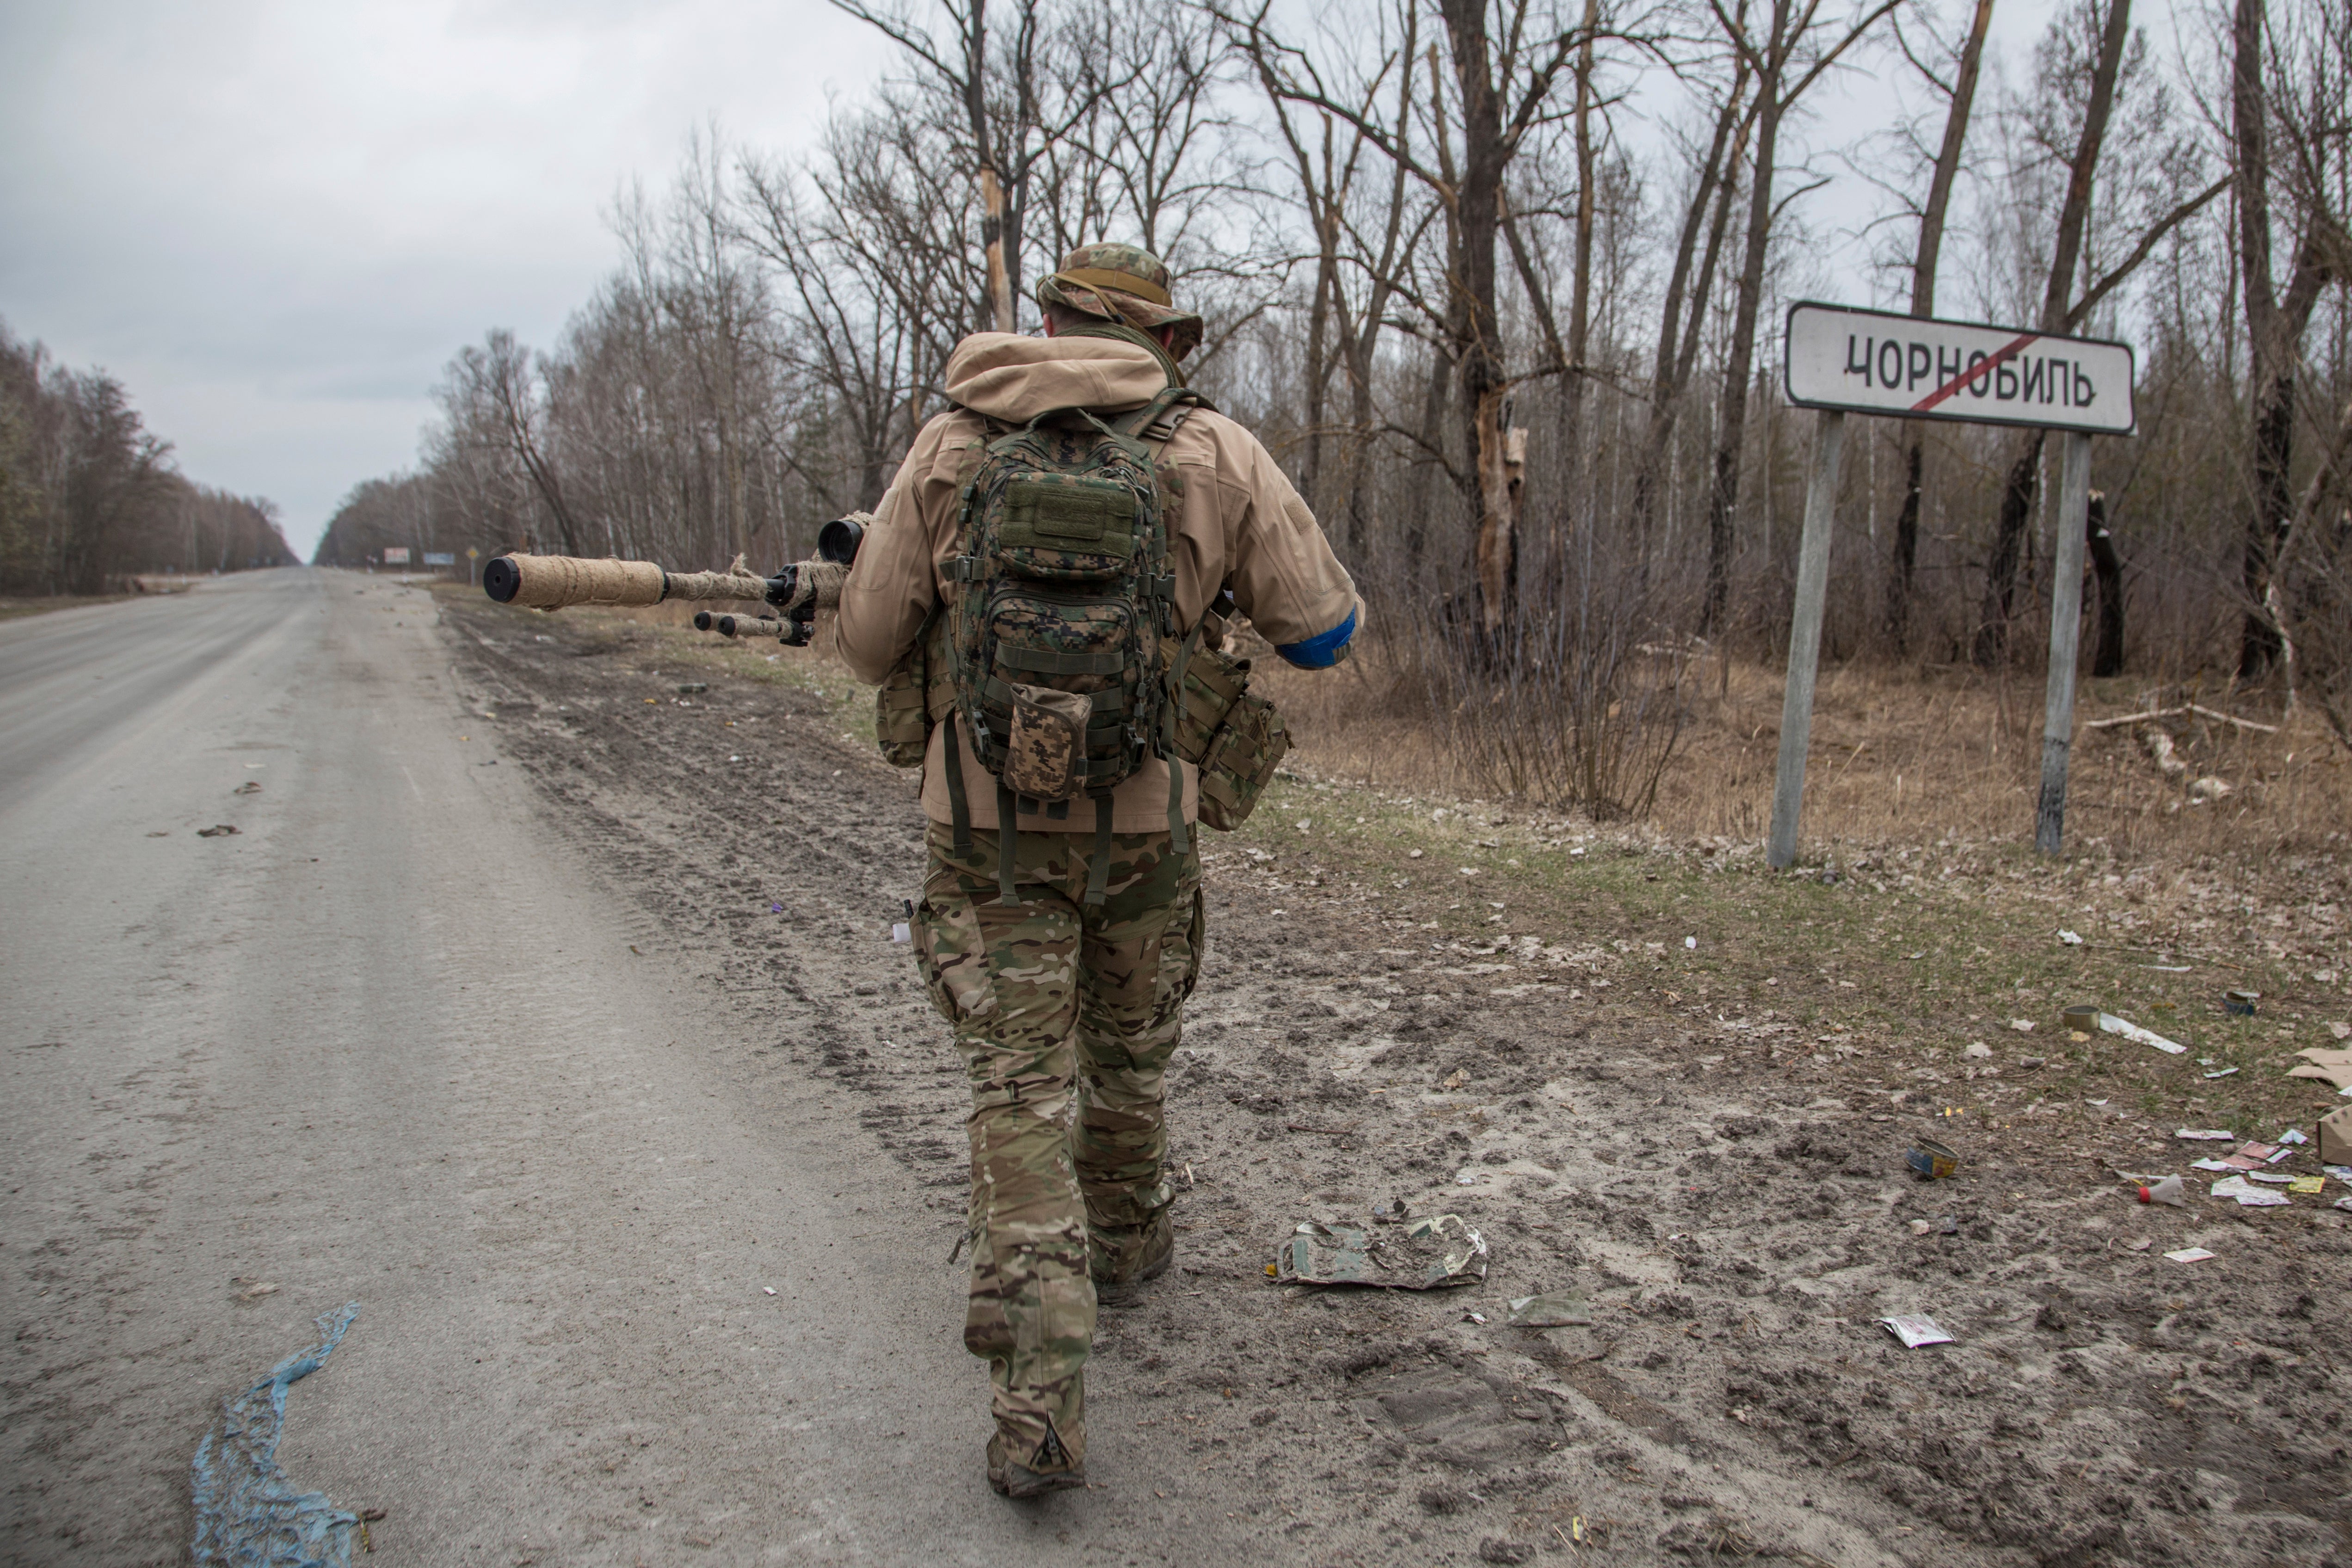
[[[1108,237],[1498,788],[1637,809],[1703,661],[1783,646],[1806,296],[2138,350],[2082,585],[2053,442],[1856,421],[1830,658],[2030,670],[2058,588],[2098,672],[2352,719],[2352,7],[2060,0],[2004,56],[2018,0],[835,2],[896,68],[800,158],[710,129],[621,195],[616,270],[463,348],[320,559],[802,555]]]

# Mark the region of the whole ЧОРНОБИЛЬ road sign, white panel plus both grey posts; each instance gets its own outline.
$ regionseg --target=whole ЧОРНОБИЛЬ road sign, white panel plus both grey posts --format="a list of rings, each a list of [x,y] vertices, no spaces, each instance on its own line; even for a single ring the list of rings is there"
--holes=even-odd
[[[1955,418],[1987,425],[2065,430],[2058,484],[2058,548],[2051,581],[2051,672],[2042,719],[2042,804],[2034,844],[2058,853],[2065,825],[2065,766],[2074,741],[2074,654],[2082,635],[2082,548],[2091,498],[2091,437],[2129,435],[2131,348],[2098,339],[2063,339],[2018,327],[1943,322],[1802,301],[1790,306],[1785,339],[1788,400],[1820,409],[1813,468],[1804,489],[1804,538],[1797,545],[1797,604],[1788,639],[1788,689],[1780,701],[1780,764],[1773,778],[1766,860],[1797,858],[1804,804],[1804,757],[1813,738],[1813,675],[1820,663],[1820,616],[1830,592],[1830,524],[1846,414]]]

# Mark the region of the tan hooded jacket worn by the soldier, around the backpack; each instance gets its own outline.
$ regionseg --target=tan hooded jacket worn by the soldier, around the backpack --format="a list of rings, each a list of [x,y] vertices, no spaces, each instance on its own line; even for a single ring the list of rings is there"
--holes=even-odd
[[[964,339],[948,357],[948,397],[962,407],[915,435],[842,585],[833,637],[856,677],[880,684],[913,646],[931,607],[948,595],[941,569],[955,559],[957,503],[985,454],[981,414],[1025,423],[1047,409],[1141,409],[1162,386],[1160,362],[1134,343],[1007,331]],[[1242,614],[1275,644],[1329,632],[1350,611],[1362,630],[1355,583],[1258,437],[1223,414],[1195,409],[1160,461],[1174,463],[1183,480],[1183,512],[1171,520],[1169,557],[1185,630],[1221,585],[1232,588]],[[997,785],[974,762],[969,741],[957,752],[971,825],[995,827]],[[922,766],[922,809],[936,823],[950,820],[943,757],[946,726],[931,731]],[[1178,766],[1185,771],[1185,820],[1192,820],[1195,769],[1188,762]],[[1112,790],[1110,804],[1112,832],[1167,832],[1167,764],[1145,757],[1136,776]],[[1094,832],[1094,809],[1080,802],[1063,820],[1023,816],[1018,827]]]

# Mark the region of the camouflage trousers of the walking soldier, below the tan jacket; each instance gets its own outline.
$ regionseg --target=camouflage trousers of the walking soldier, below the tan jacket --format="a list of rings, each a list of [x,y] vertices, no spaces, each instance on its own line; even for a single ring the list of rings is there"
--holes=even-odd
[[[971,1305],[1014,1462],[1087,1458],[1091,1246],[1117,1255],[1169,1204],[1162,1079],[1200,978],[1200,856],[1164,832],[1110,839],[1087,907],[1091,832],[1023,832],[1021,903],[997,900],[997,835],[931,825],[915,959],[971,1077]]]

